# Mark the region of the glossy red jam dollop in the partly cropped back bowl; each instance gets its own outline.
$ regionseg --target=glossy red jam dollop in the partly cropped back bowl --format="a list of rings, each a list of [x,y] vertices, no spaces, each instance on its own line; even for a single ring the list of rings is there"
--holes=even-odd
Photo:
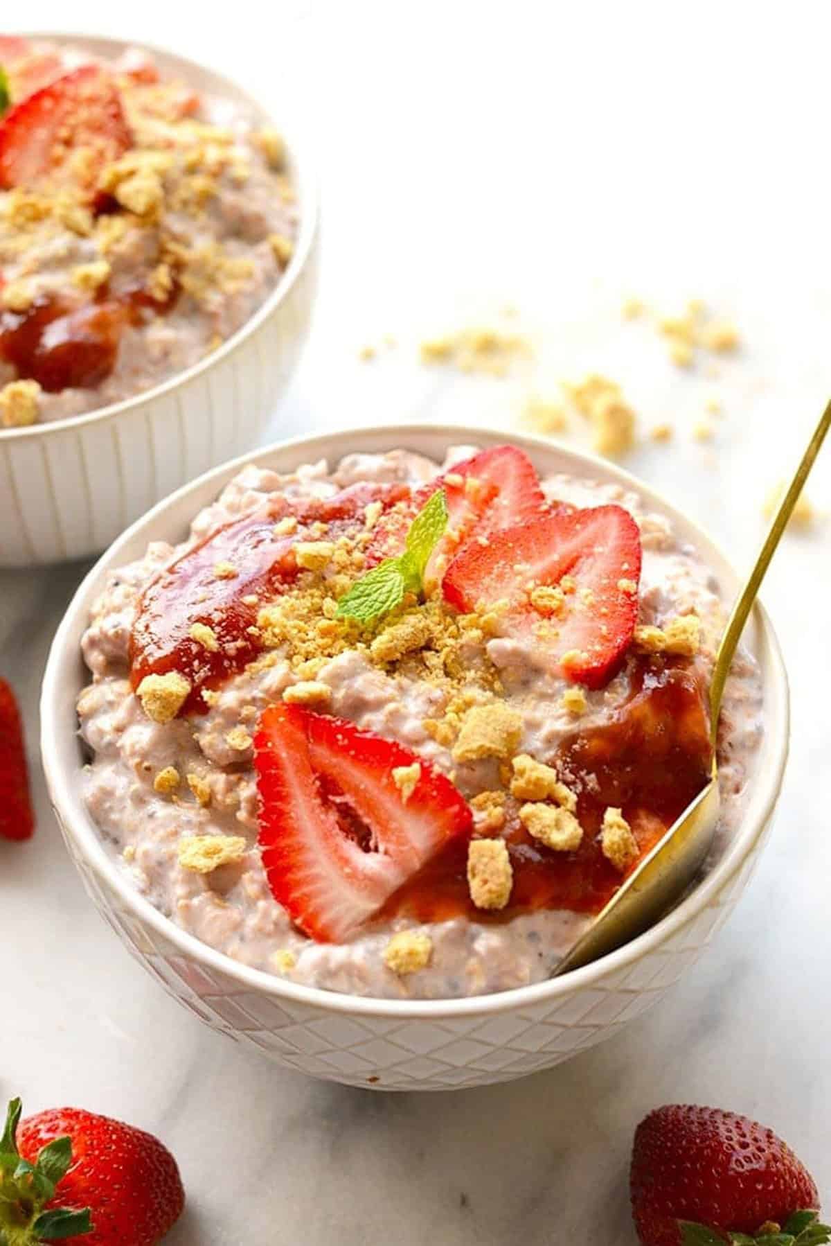
[[[177,297],[177,285],[161,302],[140,285],[117,297],[102,289],[93,303],[80,305],[41,295],[25,312],[0,313],[0,359],[50,394],[93,389],[116,366],[125,328],[143,324],[148,313],[169,312]]]

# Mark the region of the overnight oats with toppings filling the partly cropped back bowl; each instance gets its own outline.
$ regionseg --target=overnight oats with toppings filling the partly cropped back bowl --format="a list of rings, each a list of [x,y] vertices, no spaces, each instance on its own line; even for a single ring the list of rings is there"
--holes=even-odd
[[[191,368],[280,280],[279,133],[117,60],[0,35],[0,435]]]

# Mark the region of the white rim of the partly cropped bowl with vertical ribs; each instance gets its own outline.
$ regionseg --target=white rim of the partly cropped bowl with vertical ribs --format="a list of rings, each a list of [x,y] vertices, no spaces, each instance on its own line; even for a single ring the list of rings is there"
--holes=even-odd
[[[196,61],[189,56],[182,56],[179,52],[169,50],[167,47],[161,47],[157,44],[148,44],[145,40],[133,39],[116,39],[108,35],[91,35],[83,31],[14,31],[19,34],[21,39],[31,40],[46,40],[57,44],[75,44],[78,45],[88,44],[97,46],[100,50],[108,50],[112,54],[118,51],[125,51],[130,47],[136,47],[140,51],[150,52],[153,57],[167,61],[168,64],[176,64],[182,67],[186,75],[202,75],[208,74],[211,77],[216,78],[217,82],[228,88],[233,96],[242,100],[245,105],[252,107],[257,113],[260,113],[264,118],[272,117],[270,108],[265,107],[263,101],[258,98],[247,87],[235,82],[233,78],[223,74],[222,70],[216,69],[213,64],[208,61]],[[287,108],[287,113],[290,112]],[[318,174],[316,161],[314,159],[314,153],[310,155],[310,140],[306,130],[303,128],[298,137],[295,135],[297,122],[294,121],[294,113],[292,112],[292,121],[288,126],[288,142],[287,150],[289,155],[289,163],[294,169],[294,182],[300,192],[300,221],[298,229],[298,238],[289,260],[288,268],[282,274],[274,289],[269,293],[268,298],[255,312],[237,329],[234,334],[230,335],[223,344],[209,355],[203,359],[191,364],[189,368],[184,368],[166,380],[153,385],[151,389],[141,390],[138,394],[132,394],[130,397],[120,399],[117,402],[108,402],[106,406],[95,407],[92,411],[82,411],[78,415],[67,415],[61,420],[50,420],[45,424],[30,424],[21,429],[0,429],[0,445],[9,445],[14,442],[25,442],[29,439],[57,436],[66,430],[87,427],[91,424],[106,422],[107,420],[115,420],[126,411],[132,411],[136,407],[141,407],[145,404],[154,402],[157,399],[167,397],[173,390],[179,385],[187,385],[189,381],[196,380],[202,373],[213,368],[216,364],[222,363],[229,355],[239,350],[248,338],[254,334],[259,326],[267,320],[280,304],[288,298],[290,290],[297,284],[300,273],[305,269],[309,255],[316,240],[319,233],[319,221],[320,221],[320,178]],[[283,133],[283,126],[280,126],[280,133]]]

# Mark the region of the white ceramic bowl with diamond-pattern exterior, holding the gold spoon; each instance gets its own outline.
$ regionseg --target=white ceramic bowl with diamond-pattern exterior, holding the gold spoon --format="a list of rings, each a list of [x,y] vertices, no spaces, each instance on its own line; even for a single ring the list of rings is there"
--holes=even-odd
[[[80,794],[83,761],[75,704],[87,682],[80,643],[108,572],[143,554],[151,540],[179,541],[189,521],[245,462],[288,471],[323,456],[404,446],[441,459],[450,445],[506,440],[472,427],[366,429],[289,441],[203,476],[126,532],[78,588],[55,637],[41,701],[41,749],[55,812],[86,887],[128,949],[211,1027],[292,1069],[351,1085],[444,1090],[544,1069],[615,1034],[655,1003],[724,925],[770,826],[789,738],[787,680],[772,628],[756,612],[750,644],[762,670],[766,734],[736,835],[695,891],[640,938],[552,982],[473,999],[365,999],[295,986],[247,968],[186,934],[130,883]],[[726,593],[736,576],[698,527],[608,462],[533,437],[511,436],[542,472],[572,471],[639,490],[695,541]],[[102,989],[108,984],[102,983]]]

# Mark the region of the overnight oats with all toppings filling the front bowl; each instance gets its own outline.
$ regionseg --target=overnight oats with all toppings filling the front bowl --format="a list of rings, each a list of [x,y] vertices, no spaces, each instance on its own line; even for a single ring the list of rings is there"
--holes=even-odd
[[[394,998],[538,982],[706,782],[723,622],[664,516],[512,446],[248,466],[93,606],[85,800],[240,963]],[[741,653],[721,839],[761,730]]]

